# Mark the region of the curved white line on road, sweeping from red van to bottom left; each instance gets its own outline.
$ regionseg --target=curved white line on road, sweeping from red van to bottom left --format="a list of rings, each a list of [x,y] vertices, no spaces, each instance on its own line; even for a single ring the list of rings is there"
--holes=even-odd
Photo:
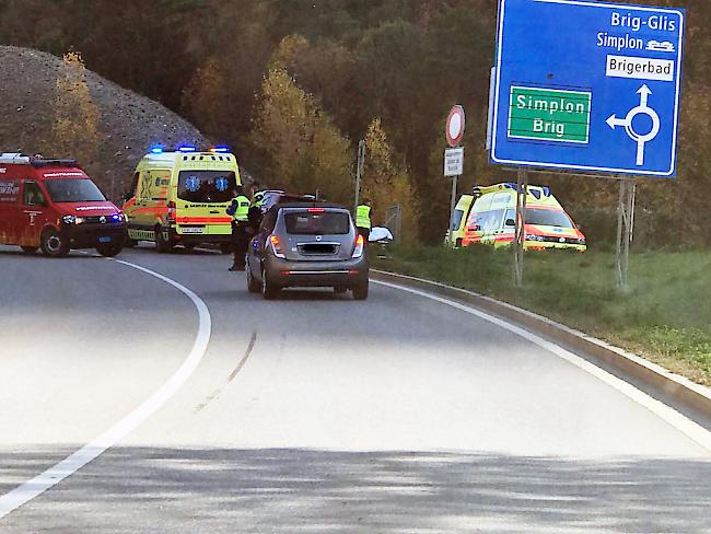
[[[145,419],[151,417],[151,415],[153,415],[161,406],[163,406],[163,404],[165,404],[175,394],[175,392],[177,392],[180,386],[185,384],[207,351],[208,343],[210,341],[210,334],[212,330],[212,320],[210,318],[208,306],[197,294],[187,289],[185,286],[176,282],[175,280],[171,280],[170,278],[141,267],[140,265],[135,265],[120,259],[114,259],[114,262],[141,270],[158,278],[159,280],[170,283],[193,301],[195,307],[198,311],[199,320],[198,333],[195,338],[193,349],[190,350],[190,353],[187,356],[187,358],[183,361],[183,364],[178,368],[177,371],[175,371],[173,376],[171,376],[168,381],[161,386],[160,390],[158,390],[149,399],[143,402],[143,404],[131,411],[128,416],[118,421],[94,441],[84,445],[73,454],[67,456],[55,466],[48,468],[40,475],[37,475],[32,480],[18,486],[9,494],[1,496],[0,519],[4,518],[13,510],[31,501],[35,497],[44,494],[49,488],[56,484],[59,484],[61,480],[72,475],[77,471],[81,469],[84,465],[95,460],[107,449],[114,446]]]

